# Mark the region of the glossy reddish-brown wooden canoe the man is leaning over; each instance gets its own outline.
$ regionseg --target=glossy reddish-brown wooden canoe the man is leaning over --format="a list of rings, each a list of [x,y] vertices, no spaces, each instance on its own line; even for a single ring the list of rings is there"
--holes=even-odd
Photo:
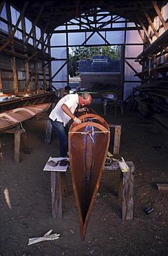
[[[105,165],[110,133],[107,122],[92,109],[79,119],[83,121],[80,125],[73,122],[70,127],[68,145],[81,239],[84,240]]]

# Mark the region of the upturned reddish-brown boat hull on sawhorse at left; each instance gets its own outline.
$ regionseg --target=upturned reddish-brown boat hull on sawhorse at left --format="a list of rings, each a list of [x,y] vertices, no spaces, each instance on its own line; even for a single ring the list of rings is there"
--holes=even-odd
[[[0,131],[9,129],[30,118],[34,118],[50,108],[51,103],[21,107],[0,113]]]

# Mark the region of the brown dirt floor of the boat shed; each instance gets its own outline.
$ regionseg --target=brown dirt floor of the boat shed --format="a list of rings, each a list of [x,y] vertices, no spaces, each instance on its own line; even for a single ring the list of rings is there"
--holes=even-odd
[[[20,163],[14,164],[14,136],[0,134],[1,142],[1,256],[55,255],[168,255],[167,191],[156,183],[167,183],[167,139],[150,119],[126,107],[124,114],[101,104],[91,104],[109,124],[121,124],[120,154],[132,161],[134,172],[134,219],[122,221],[122,199],[118,199],[119,171],[105,170],[85,235],[81,241],[70,170],[68,196],[63,196],[63,219],[52,219],[50,172],[43,167],[50,156],[59,156],[54,132],[50,145],[44,143],[45,122],[28,120],[25,130],[30,154],[21,144]],[[111,129],[109,152],[113,152]],[[154,210],[145,214],[147,208]],[[55,241],[28,246],[28,239],[49,230],[59,233]]]

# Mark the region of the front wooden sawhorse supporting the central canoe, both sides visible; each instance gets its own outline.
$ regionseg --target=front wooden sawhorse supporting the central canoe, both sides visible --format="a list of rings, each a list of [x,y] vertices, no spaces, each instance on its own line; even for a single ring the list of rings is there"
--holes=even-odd
[[[133,196],[134,196],[134,163],[126,162],[129,171],[120,171],[118,198],[123,198],[122,219],[133,219]],[[46,166],[46,165],[45,165]],[[119,170],[118,164],[105,166],[104,170]],[[51,193],[52,193],[52,218],[62,219],[62,193],[67,196],[67,180],[65,172],[51,171]]]

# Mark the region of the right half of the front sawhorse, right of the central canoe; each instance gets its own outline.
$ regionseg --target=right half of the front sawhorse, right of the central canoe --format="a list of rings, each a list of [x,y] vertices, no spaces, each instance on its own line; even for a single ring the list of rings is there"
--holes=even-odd
[[[134,196],[134,163],[126,162],[129,171],[120,171],[120,181],[118,189],[118,197],[123,197],[123,221],[133,219],[133,196]],[[111,166],[105,166],[104,170],[118,170],[118,164],[113,163]]]

